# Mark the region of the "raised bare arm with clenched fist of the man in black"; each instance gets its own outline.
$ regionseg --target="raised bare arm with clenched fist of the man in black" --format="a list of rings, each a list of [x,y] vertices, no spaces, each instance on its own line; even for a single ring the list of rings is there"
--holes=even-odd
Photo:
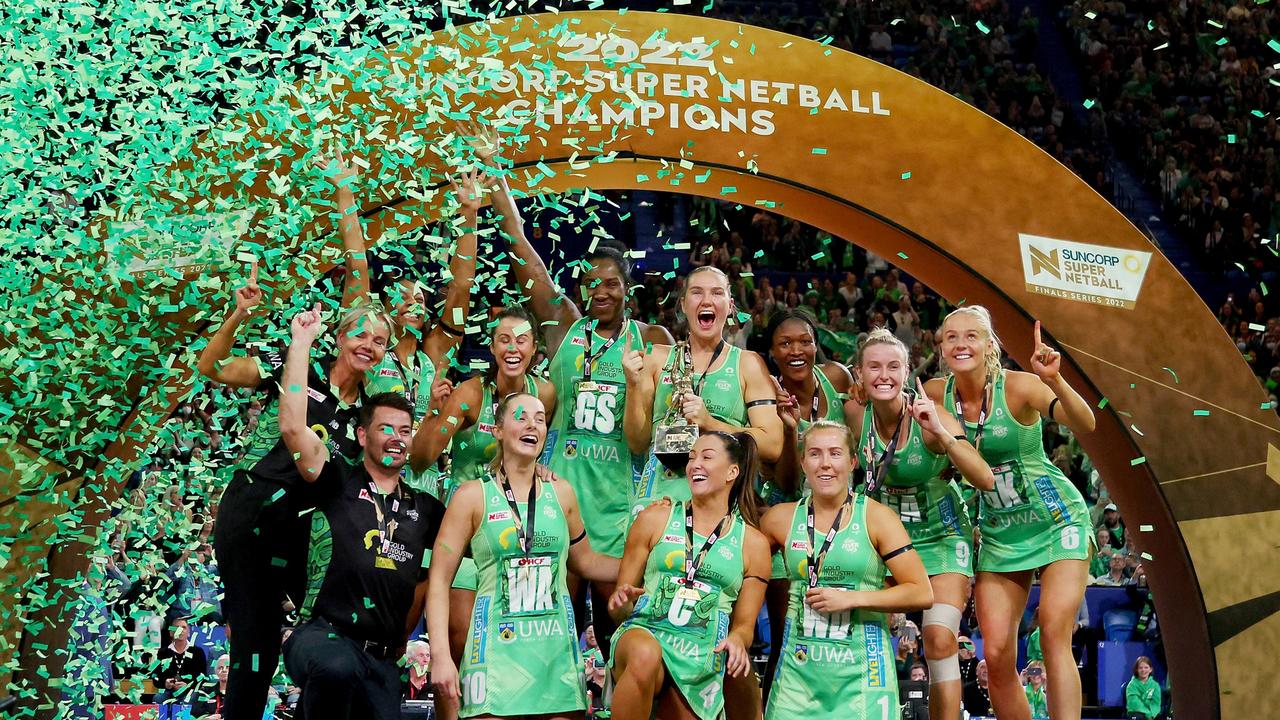
[[[293,316],[293,342],[284,360],[280,378],[280,438],[293,454],[302,479],[314,483],[329,460],[329,448],[307,424],[307,363],[311,345],[324,327],[320,323],[320,304],[315,309]]]

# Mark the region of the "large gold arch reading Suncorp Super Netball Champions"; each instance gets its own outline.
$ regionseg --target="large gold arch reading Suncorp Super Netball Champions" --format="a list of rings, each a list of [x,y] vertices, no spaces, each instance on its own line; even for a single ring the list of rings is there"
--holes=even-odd
[[[526,82],[503,73],[517,64],[544,74]],[[517,195],[650,190],[762,206],[891,259],[952,302],[986,305],[1015,359],[1025,360],[1032,324],[1043,322],[1069,380],[1098,409],[1097,429],[1079,439],[1138,530],[1169,629],[1175,711],[1252,717],[1280,705],[1280,684],[1263,661],[1280,644],[1272,619],[1280,607],[1280,421],[1260,407],[1266,395],[1257,379],[1178,269],[1069,169],[919,79],[800,37],[707,18],[512,17],[392,49],[370,58],[364,76],[381,68],[390,77],[388,67],[404,88],[421,82],[424,91],[451,70],[465,78],[458,68],[470,68],[474,82],[489,78],[488,90],[463,101],[474,105],[452,111],[498,118],[503,110],[499,124],[529,136],[508,150]],[[626,77],[628,67],[649,76]],[[324,126],[360,110],[371,133],[387,118],[416,118],[428,140],[452,127],[451,118],[420,115],[412,92],[383,85],[371,95],[343,76],[329,88],[297,100],[297,111]],[[179,208],[230,210],[246,197],[303,192],[279,182],[291,160],[268,161],[264,150],[296,138],[260,114],[237,123],[207,133],[177,169],[198,186],[202,160],[230,154],[257,158],[264,172],[204,178],[207,192],[174,195]],[[436,217],[431,193],[401,187],[442,167],[420,155],[417,167],[392,169],[397,181],[362,199],[371,241]],[[324,215],[306,231],[333,233]],[[248,233],[294,252],[293,238],[260,225]],[[211,332],[206,323],[187,320],[175,341]],[[100,455],[136,457],[150,437],[138,427],[163,418],[179,396],[140,402],[129,421],[141,425],[132,437],[122,428]],[[113,492],[119,488],[78,502],[104,506]],[[14,547],[31,557],[46,551],[38,542]],[[47,552],[55,578],[73,578],[88,562],[83,548]],[[49,648],[65,647],[67,626],[40,621],[54,612],[4,630],[22,633],[15,682],[56,698],[49,678],[60,675],[64,656]],[[51,716],[50,707],[38,712]]]

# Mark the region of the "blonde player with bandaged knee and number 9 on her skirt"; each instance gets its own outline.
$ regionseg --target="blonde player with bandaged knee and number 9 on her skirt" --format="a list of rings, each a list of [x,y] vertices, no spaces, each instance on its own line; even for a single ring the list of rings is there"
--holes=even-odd
[[[845,421],[859,438],[863,492],[897,515],[929,574],[933,606],[923,623],[929,707],[938,717],[955,717],[964,694],[956,637],[973,578],[973,525],[946,470],[955,465],[982,491],[992,489],[996,479],[960,423],[929,400],[920,380],[914,388],[906,384],[909,357],[893,333],[873,329],[855,373],[865,405],[846,402]]]

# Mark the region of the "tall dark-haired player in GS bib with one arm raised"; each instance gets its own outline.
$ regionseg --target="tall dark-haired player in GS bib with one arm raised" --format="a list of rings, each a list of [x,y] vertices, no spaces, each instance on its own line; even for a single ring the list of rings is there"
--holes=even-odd
[[[609,246],[588,252],[580,265],[579,297],[571,299],[559,291],[525,237],[520,210],[504,184],[494,195],[494,209],[503,217],[503,231],[517,258],[512,263],[516,282],[527,288],[534,316],[547,336],[549,374],[558,393],[543,461],[577,492],[591,547],[622,557],[635,464],[622,433],[627,405],[622,354],[627,346],[671,343],[671,333],[627,318],[631,264],[622,252]],[[613,585],[595,583],[591,591],[591,606],[598,609],[593,624],[608,657],[613,623],[603,609]]]

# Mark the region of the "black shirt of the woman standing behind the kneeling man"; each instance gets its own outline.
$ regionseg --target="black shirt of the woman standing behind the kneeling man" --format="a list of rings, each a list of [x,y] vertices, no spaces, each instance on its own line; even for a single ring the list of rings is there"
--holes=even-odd
[[[262,414],[257,427],[244,441],[244,451],[236,464],[257,479],[282,486],[296,486],[302,478],[293,464],[293,454],[280,437],[280,377],[284,374],[285,351],[270,350],[259,357],[262,372],[269,373],[259,384]],[[342,402],[329,386],[332,356],[314,360],[307,366],[307,424],[329,446],[332,457],[355,461],[360,457],[356,427],[360,424],[360,404],[365,387],[360,386],[360,398],[355,404]]]

